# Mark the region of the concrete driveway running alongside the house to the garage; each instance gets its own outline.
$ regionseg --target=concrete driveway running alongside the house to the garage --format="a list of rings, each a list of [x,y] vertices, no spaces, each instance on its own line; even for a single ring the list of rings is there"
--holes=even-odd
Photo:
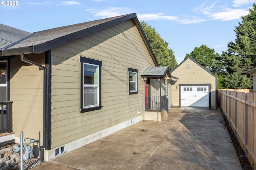
[[[242,170],[220,109],[171,108],[34,170]]]

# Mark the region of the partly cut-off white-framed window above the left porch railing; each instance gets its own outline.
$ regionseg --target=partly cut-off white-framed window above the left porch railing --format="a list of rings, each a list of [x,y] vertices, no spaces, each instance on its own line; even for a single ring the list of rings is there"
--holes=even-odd
[[[7,101],[7,61],[0,61],[0,102]]]

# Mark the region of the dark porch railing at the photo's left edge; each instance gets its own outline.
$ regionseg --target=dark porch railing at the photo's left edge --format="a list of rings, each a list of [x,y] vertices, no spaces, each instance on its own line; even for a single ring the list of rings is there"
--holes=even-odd
[[[0,133],[12,132],[12,102],[0,102]]]

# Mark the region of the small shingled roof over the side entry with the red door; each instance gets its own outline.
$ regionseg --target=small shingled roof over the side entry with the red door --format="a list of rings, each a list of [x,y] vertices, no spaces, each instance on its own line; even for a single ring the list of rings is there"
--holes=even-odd
[[[164,77],[168,71],[168,66],[147,67],[141,74],[141,77]]]

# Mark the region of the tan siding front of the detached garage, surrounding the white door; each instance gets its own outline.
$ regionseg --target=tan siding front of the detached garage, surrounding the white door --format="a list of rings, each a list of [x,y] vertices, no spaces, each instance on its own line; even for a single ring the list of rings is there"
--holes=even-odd
[[[187,59],[180,64],[171,74],[177,76],[179,79],[172,86],[172,105],[179,106],[179,89],[176,88],[178,84],[212,84],[211,88],[211,107],[216,107],[216,78],[209,72],[204,70],[194,61]]]

